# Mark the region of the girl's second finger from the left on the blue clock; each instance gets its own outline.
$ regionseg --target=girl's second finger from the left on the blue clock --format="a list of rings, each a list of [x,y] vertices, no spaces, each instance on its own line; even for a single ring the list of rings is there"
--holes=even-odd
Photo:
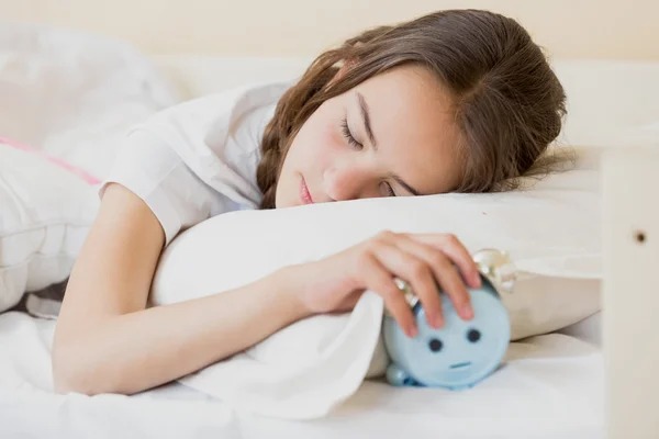
[[[410,283],[414,294],[421,301],[428,323],[439,328],[444,325],[444,318],[438,282],[429,263],[423,257],[417,257],[412,251],[405,251],[402,247],[404,240],[409,239],[395,238],[378,246],[378,258],[389,271]],[[417,245],[423,246],[422,244]],[[407,246],[410,246],[409,243]]]

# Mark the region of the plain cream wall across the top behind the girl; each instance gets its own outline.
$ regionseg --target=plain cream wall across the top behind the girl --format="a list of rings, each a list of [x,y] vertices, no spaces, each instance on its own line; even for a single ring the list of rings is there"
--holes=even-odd
[[[557,58],[659,59],[659,0],[0,0],[0,18],[158,55],[313,56],[361,29],[451,8],[510,15]]]

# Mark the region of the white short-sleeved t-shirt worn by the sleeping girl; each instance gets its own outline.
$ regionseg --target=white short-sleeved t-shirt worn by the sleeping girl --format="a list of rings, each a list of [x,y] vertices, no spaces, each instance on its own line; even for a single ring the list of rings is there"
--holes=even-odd
[[[225,212],[256,209],[260,140],[290,82],[242,87],[166,109],[131,130],[100,189],[116,182],[146,202],[166,245]]]

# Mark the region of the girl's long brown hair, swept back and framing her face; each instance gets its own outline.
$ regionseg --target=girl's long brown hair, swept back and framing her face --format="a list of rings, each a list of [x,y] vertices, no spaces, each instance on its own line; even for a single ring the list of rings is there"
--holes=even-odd
[[[336,79],[345,63],[349,68]],[[456,192],[514,188],[518,177],[538,168],[566,113],[563,89],[540,47],[506,16],[479,10],[439,11],[366,31],[311,64],[280,99],[264,133],[257,168],[261,209],[275,207],[288,148],[324,101],[411,63],[435,72],[454,97],[465,160]]]

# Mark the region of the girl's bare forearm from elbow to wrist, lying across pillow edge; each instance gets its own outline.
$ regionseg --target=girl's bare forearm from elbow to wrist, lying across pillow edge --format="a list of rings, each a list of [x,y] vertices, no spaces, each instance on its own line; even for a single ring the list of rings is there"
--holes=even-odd
[[[58,390],[133,394],[225,359],[306,316],[289,291],[279,271],[221,294],[109,317],[57,352]]]

